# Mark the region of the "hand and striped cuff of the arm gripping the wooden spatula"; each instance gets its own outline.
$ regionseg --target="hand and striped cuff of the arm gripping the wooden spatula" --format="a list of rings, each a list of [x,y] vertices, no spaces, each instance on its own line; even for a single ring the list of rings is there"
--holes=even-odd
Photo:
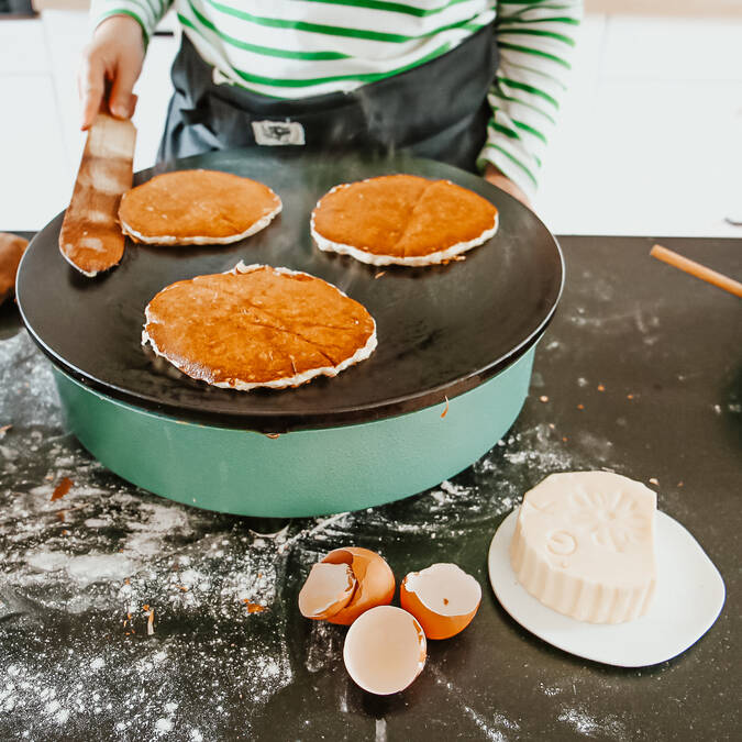
[[[88,129],[101,108],[120,119],[134,113],[132,92],[144,63],[144,49],[171,0],[93,0],[96,30],[82,54],[78,74],[81,129]],[[108,101],[104,101],[108,96]]]

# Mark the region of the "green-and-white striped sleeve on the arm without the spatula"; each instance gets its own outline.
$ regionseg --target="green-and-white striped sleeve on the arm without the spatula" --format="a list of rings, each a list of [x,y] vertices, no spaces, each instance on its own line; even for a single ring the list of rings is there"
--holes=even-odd
[[[491,163],[529,196],[566,89],[583,0],[499,0],[500,64],[479,167]]]

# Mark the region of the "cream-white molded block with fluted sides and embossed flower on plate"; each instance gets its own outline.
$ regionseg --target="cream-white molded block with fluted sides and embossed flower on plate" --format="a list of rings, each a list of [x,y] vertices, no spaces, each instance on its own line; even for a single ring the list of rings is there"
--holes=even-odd
[[[591,623],[649,609],[656,582],[656,494],[609,472],[552,474],[525,494],[510,544],[518,582]]]

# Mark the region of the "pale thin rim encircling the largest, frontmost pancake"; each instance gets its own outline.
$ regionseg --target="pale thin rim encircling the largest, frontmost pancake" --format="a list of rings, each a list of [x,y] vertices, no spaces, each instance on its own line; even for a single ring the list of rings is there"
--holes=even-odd
[[[278,274],[284,274],[287,276],[309,276],[310,278],[318,278],[317,276],[312,276],[311,274],[304,273],[303,270],[291,270],[290,268],[284,268],[284,267],[274,267],[270,265],[265,265],[262,263],[253,263],[252,265],[245,265],[242,261],[237,263],[234,268],[231,270],[224,270],[224,274],[247,274],[247,273],[253,273],[254,270],[259,270],[261,268],[270,268],[272,270],[278,273]],[[193,276],[193,278],[197,278],[198,276]],[[324,280],[323,278],[319,278],[319,280]],[[177,283],[177,281],[176,281]],[[324,281],[328,284],[328,286],[332,286],[335,291],[337,291],[341,296],[345,297],[346,299],[350,299],[351,297],[347,296],[342,289],[339,289],[334,284],[330,284],[330,281]],[[171,284],[170,284],[171,286]],[[167,287],[165,287],[167,288]],[[165,289],[160,289],[157,294],[160,294]],[[155,295],[157,296],[157,295]],[[153,297],[154,299],[154,297]],[[186,374],[174,361],[171,361],[167,354],[162,353],[159,348],[157,347],[157,344],[155,343],[154,339],[147,333],[146,326],[149,324],[151,318],[149,318],[149,303],[152,303],[152,300],[147,303],[146,308],[144,309],[144,317],[146,322],[144,323],[144,328],[142,329],[142,345],[146,346],[147,344],[149,347],[152,347],[153,352],[155,355],[159,356],[160,358],[164,358],[167,361],[169,364],[175,366],[180,373]],[[363,307],[363,304],[361,304]],[[366,361],[372,353],[376,350],[376,346],[378,345],[377,336],[376,336],[376,320],[373,318],[372,313],[364,307],[364,310],[368,313],[368,317],[370,317],[372,323],[373,323],[373,332],[368,336],[368,340],[366,341],[366,344],[363,347],[359,347],[352,356],[346,358],[345,361],[341,362],[336,366],[321,366],[319,368],[311,368],[308,372],[303,372],[302,374],[295,374],[294,376],[284,376],[283,378],[275,379],[273,381],[241,381],[240,379],[236,379],[234,383],[229,383],[229,381],[218,381],[218,383],[212,383],[212,381],[206,381],[204,379],[197,379],[200,381],[204,381],[204,384],[208,384],[209,386],[212,387],[219,387],[220,389],[235,389],[237,391],[250,391],[251,389],[257,389],[257,388],[268,388],[268,389],[286,389],[288,387],[298,387],[301,386],[302,384],[306,384],[307,381],[310,381],[311,379],[318,377],[318,376],[329,376],[329,377],[334,377],[337,376],[341,372],[345,370],[346,368],[350,368],[351,366],[354,366],[357,363],[361,363],[362,361]],[[189,376],[186,374],[186,376]],[[193,378],[193,377],[190,377]]]

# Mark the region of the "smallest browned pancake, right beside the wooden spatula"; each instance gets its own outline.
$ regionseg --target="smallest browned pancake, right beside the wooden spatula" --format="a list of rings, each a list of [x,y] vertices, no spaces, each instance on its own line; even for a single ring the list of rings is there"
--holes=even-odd
[[[220,170],[176,170],[125,193],[119,220],[134,242],[222,245],[259,232],[280,210],[278,196],[256,180]]]

